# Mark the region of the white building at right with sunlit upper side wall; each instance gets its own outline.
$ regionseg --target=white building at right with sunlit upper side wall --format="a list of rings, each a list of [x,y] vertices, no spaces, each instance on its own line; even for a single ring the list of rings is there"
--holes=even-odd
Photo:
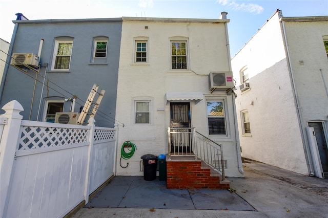
[[[242,157],[311,176],[321,165],[328,173],[326,53],[328,16],[277,10],[232,58]],[[308,127],[318,146],[309,143]]]

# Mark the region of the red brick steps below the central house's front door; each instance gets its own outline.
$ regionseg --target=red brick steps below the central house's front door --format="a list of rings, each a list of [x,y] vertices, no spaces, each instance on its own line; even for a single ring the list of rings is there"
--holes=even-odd
[[[228,189],[230,182],[201,160],[169,160],[167,156],[167,188]]]

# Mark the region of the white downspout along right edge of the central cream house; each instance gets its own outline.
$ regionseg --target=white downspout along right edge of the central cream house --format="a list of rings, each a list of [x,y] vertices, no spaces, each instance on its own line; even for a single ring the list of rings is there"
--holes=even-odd
[[[221,12],[221,19],[227,19],[227,12]],[[230,43],[229,43],[229,35],[228,35],[228,22],[224,23],[224,26],[226,27],[226,45],[227,45],[227,55],[228,55],[228,67],[229,71],[232,71],[231,69],[231,57],[230,57]],[[244,170],[242,169],[242,162],[241,162],[241,154],[240,154],[240,145],[239,145],[239,136],[238,136],[238,131],[237,131],[237,119],[236,119],[236,102],[235,102],[235,93],[233,90],[232,92],[232,106],[233,106],[233,114],[234,114],[234,131],[235,131],[235,143],[236,143],[236,153],[237,153],[237,164],[238,164],[238,170],[240,173],[244,173]]]

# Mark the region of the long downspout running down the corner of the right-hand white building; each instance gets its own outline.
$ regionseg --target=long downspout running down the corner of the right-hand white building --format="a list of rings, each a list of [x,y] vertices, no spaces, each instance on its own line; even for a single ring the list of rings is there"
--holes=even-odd
[[[298,99],[298,94],[297,94],[296,85],[295,85],[295,78],[294,78],[294,74],[293,74],[292,63],[290,61],[291,57],[290,57],[290,52],[289,52],[288,44],[287,44],[285,25],[284,25],[284,22],[281,18],[280,18],[280,21],[281,21],[281,24],[282,24],[283,42],[284,42],[284,45],[285,45],[285,48],[286,48],[288,67],[289,67],[289,71],[290,71],[291,79],[292,79],[292,89],[293,89],[293,93],[294,93],[294,96],[295,96],[297,117],[298,117],[298,121],[299,121],[299,124],[300,124],[300,127],[301,127],[302,142],[303,142],[303,148],[304,148],[304,152],[305,152],[306,165],[308,165],[308,169],[310,171],[310,176],[313,177],[314,176],[314,168],[313,168],[313,163],[311,161],[312,158],[311,158],[311,155],[310,155],[310,148],[308,146],[308,143],[306,143],[306,135],[304,133],[305,127],[303,127],[303,125],[302,125],[302,115],[301,115],[301,110],[300,110],[301,107],[299,106],[299,99]]]

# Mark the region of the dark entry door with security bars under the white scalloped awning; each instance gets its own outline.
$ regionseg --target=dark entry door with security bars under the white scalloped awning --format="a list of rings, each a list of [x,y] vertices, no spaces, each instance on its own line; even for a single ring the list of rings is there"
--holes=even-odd
[[[172,130],[177,132],[171,134],[172,152],[191,152],[191,118],[190,103],[171,103],[171,128],[181,128]],[[186,128],[186,129],[183,129]]]

